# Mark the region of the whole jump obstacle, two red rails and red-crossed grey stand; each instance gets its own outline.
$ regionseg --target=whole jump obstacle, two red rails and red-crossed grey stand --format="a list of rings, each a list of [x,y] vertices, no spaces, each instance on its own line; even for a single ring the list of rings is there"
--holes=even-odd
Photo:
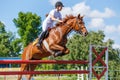
[[[105,80],[108,80],[108,48],[102,47],[101,53],[97,53],[94,45],[90,45],[89,61],[86,60],[0,60],[0,64],[89,64],[89,70],[49,70],[49,71],[0,71],[0,75],[27,75],[27,74],[89,74],[89,80],[92,80],[94,75],[97,80],[100,80],[105,75]],[[92,59],[92,55],[95,54],[95,60]],[[105,56],[105,61],[102,57]],[[95,66],[97,62],[100,62],[103,66]],[[101,74],[97,74],[95,68],[102,68]]]

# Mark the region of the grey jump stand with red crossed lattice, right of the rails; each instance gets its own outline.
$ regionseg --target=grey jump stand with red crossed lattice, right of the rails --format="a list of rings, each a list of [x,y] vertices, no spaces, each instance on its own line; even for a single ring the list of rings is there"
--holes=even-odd
[[[103,50],[98,53],[95,48],[102,48]],[[89,80],[92,80],[92,74],[97,78],[97,80],[100,80],[102,76],[105,75],[105,80],[108,80],[108,47],[106,46],[95,46],[90,45],[89,50]],[[95,54],[96,58],[93,60],[92,54]],[[102,59],[102,57],[105,56],[105,61]],[[96,63],[100,62],[102,66],[95,66]],[[98,74],[95,71],[95,68],[102,68],[103,71]]]

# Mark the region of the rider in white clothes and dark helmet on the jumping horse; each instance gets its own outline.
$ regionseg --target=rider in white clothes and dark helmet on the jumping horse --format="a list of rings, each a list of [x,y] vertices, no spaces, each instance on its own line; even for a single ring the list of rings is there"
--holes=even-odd
[[[42,41],[45,38],[45,35],[47,33],[49,33],[49,30],[53,27],[53,23],[56,22],[63,22],[62,21],[62,15],[60,13],[60,11],[62,10],[62,7],[64,7],[64,5],[62,4],[62,2],[58,1],[55,4],[55,9],[51,10],[50,13],[48,14],[48,16],[46,17],[46,19],[43,21],[42,24],[42,33],[39,35],[39,39],[38,39],[38,43],[37,43],[37,47],[41,46]]]

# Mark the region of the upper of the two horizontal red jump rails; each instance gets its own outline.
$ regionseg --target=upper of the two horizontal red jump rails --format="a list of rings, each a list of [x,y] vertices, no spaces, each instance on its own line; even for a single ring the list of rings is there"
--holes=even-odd
[[[0,64],[88,64],[85,60],[0,60]]]

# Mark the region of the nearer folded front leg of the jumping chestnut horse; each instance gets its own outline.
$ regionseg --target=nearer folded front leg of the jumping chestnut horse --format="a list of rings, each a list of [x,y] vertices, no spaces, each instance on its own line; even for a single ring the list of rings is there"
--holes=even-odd
[[[53,50],[53,51],[57,51],[54,56],[57,57],[57,56],[62,56],[64,55],[65,53],[65,47],[63,46],[60,46],[58,44],[53,44],[50,46],[50,49]]]

